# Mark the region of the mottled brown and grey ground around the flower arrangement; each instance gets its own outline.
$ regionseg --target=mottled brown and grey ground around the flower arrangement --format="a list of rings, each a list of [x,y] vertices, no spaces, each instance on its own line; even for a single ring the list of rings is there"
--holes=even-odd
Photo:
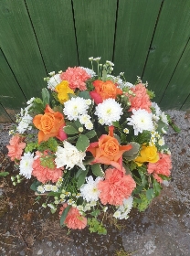
[[[169,113],[181,133],[170,129],[165,136],[173,157],[172,176],[150,208],[142,213],[132,210],[131,218],[118,227],[108,220],[106,236],[86,229],[68,234],[59,227],[58,215],[40,208],[41,201],[38,204],[29,190],[31,181],[13,187],[10,178],[1,178],[0,255],[190,255],[190,116]],[[0,129],[0,167],[12,172],[5,156],[9,125],[1,124]]]

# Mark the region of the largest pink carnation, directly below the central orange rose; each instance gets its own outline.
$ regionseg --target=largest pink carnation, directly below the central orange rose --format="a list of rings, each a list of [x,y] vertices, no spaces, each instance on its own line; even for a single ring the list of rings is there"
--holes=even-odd
[[[126,176],[118,169],[107,169],[105,180],[100,180],[98,184],[100,201],[103,205],[120,206],[124,198],[132,195],[134,187],[136,184],[132,176]]]

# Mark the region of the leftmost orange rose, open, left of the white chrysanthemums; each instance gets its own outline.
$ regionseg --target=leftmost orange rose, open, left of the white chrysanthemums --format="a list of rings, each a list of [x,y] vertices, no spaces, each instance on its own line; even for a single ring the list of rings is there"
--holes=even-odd
[[[65,124],[63,114],[54,112],[49,105],[46,107],[45,114],[37,114],[34,117],[33,123],[40,130],[38,144],[47,141],[50,137],[58,137],[59,128]]]

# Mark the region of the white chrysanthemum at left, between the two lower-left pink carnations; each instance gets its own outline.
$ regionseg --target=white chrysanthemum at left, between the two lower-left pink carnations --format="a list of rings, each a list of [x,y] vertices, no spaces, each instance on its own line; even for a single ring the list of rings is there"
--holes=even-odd
[[[34,163],[34,153],[25,153],[21,156],[20,165],[19,165],[19,174],[25,176],[26,178],[31,178],[33,165]]]

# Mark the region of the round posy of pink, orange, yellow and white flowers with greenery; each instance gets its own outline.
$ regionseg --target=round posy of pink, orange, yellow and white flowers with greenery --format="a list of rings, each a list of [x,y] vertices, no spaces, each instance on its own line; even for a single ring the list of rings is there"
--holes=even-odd
[[[111,61],[90,62],[92,69],[49,73],[42,98],[16,115],[7,148],[19,171],[14,185],[32,178],[31,189],[47,196],[42,207],[58,210],[61,225],[106,234],[105,215],[143,211],[170,176],[168,117],[139,77],[132,84],[111,75]]]

